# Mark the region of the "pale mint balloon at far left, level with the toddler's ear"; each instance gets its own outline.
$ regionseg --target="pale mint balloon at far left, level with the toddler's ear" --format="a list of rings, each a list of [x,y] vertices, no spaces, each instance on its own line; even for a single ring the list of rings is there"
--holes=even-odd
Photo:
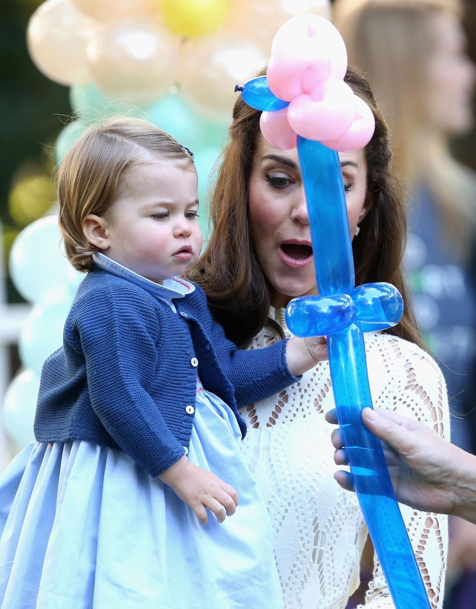
[[[30,302],[68,286],[71,265],[60,247],[57,216],[46,216],[28,225],[13,242],[10,276],[18,292]]]

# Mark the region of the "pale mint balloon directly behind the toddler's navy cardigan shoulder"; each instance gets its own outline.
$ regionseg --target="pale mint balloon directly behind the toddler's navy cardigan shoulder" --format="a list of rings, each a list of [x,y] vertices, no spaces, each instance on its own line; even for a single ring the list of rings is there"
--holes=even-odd
[[[63,345],[63,328],[72,296],[68,286],[52,290],[33,306],[23,325],[18,353],[24,367],[38,376],[45,359]]]

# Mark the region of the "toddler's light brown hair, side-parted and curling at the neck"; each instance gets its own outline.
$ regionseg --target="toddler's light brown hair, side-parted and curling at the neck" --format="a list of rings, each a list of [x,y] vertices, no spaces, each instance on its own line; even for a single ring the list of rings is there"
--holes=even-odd
[[[88,214],[105,216],[127,167],[161,160],[187,164],[189,151],[169,133],[136,118],[116,117],[91,125],[73,144],[58,172],[58,219],[65,251],[75,269],[87,272],[97,252],[83,233]]]

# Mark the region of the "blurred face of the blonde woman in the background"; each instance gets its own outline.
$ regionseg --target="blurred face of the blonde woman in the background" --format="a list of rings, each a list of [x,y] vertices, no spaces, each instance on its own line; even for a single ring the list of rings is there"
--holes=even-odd
[[[474,63],[467,57],[466,37],[452,13],[432,18],[435,49],[427,67],[426,92],[432,124],[448,135],[469,130],[473,124]]]

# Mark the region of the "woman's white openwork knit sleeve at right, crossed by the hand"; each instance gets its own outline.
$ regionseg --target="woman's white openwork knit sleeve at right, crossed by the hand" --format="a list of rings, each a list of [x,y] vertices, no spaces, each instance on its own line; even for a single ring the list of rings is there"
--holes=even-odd
[[[387,348],[393,351],[394,361],[399,362],[403,374],[399,382],[391,387],[393,395],[388,393],[390,388],[387,385],[385,393],[374,395],[374,404],[385,406],[405,417],[413,417],[449,439],[448,401],[441,370],[431,357],[411,343],[390,341]],[[447,516],[419,512],[402,504],[400,508],[430,605],[432,609],[440,609],[443,606],[446,571]],[[359,607],[394,607],[377,555],[374,556],[373,580],[369,584],[365,605]]]

